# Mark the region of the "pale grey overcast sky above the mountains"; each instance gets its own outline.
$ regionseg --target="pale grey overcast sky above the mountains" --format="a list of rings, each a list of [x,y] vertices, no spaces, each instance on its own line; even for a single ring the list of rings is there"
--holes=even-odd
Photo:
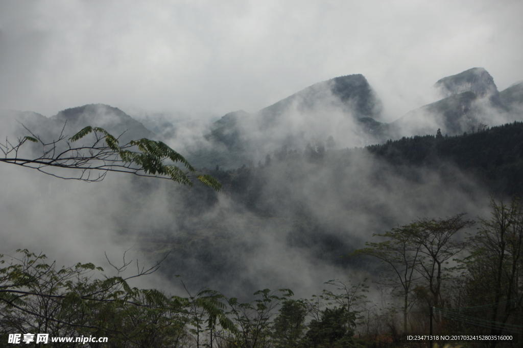
[[[363,74],[392,120],[441,77],[523,79],[521,1],[1,1],[0,109],[255,112]]]

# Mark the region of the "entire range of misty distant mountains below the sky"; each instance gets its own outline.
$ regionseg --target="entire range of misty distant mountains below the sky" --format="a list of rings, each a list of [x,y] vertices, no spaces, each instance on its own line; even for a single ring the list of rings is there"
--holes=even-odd
[[[340,76],[315,83],[255,113],[239,110],[225,114],[209,125],[209,133],[201,140],[179,150],[198,167],[232,168],[265,161],[267,154],[275,155],[283,148],[322,148],[330,137],[338,148],[362,147],[405,136],[434,135],[438,129],[452,136],[523,121],[523,82],[499,92],[488,71],[472,68],[444,77],[434,87],[443,99],[384,123],[380,122],[382,103],[367,79],[361,74]],[[67,136],[91,125],[121,135],[122,142],[143,137],[175,139],[176,127],[162,117],[145,118],[154,129],[151,131],[104,104],[73,107],[50,118],[33,112],[0,111],[5,135],[27,134],[23,124],[35,134],[53,139],[64,125]]]

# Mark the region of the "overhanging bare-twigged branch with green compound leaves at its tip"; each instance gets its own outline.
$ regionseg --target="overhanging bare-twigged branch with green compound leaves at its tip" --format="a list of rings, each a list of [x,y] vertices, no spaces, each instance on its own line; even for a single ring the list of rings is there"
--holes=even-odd
[[[178,152],[162,141],[142,138],[131,140],[120,146],[119,137],[109,134],[104,128],[87,126],[78,133],[66,139],[64,128],[57,140],[43,141],[33,134],[18,138],[17,143],[0,143],[3,158],[0,162],[16,164],[36,169],[42,173],[62,179],[76,179],[86,182],[98,182],[105,178],[108,172],[129,173],[137,176],[169,179],[179,184],[193,185],[193,180],[203,185],[220,190],[222,185],[208,174],[198,174],[196,169]],[[94,139],[88,145],[74,146],[89,134]],[[41,154],[36,158],[22,156],[22,146],[26,142],[38,144]],[[26,153],[26,152],[24,152]],[[181,168],[175,165],[180,163]],[[64,176],[53,169],[76,170],[75,176]]]

